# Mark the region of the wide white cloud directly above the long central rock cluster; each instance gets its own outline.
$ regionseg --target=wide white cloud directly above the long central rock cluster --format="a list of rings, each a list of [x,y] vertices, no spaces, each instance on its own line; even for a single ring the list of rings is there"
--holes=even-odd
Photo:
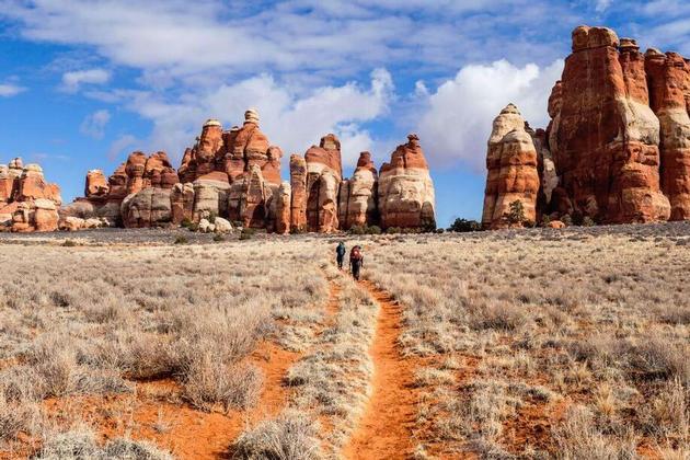
[[[162,148],[176,160],[198,135],[206,117],[219,118],[229,128],[241,125],[244,111],[255,107],[262,130],[286,156],[303,153],[319,143],[321,136],[334,133],[343,138],[344,164],[353,165],[359,152],[372,146],[363,124],[384,115],[393,93],[391,74],[377,69],[368,87],[349,82],[302,94],[263,74],[203,93],[187,93],[175,102],[162,101],[152,93],[134,93],[128,105],[153,123],[151,149]]]

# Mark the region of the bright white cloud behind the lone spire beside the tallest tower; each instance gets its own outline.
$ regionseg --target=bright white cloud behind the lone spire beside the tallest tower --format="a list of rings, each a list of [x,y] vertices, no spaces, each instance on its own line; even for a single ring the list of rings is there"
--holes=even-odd
[[[429,161],[483,171],[496,115],[513,102],[531,126],[545,127],[551,88],[562,70],[562,60],[545,68],[520,68],[506,60],[463,67],[426,101],[418,134]]]

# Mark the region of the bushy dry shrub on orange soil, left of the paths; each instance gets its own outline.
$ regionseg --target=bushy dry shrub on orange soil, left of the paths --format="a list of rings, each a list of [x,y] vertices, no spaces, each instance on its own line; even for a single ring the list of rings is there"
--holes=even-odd
[[[218,403],[226,411],[245,410],[258,400],[263,373],[255,366],[227,365],[204,355],[186,369],[183,383],[185,398],[200,410],[211,411]]]

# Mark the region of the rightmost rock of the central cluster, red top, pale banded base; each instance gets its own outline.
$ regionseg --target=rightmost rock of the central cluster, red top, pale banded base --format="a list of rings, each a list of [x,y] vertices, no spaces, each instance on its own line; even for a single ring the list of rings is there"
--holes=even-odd
[[[434,183],[416,135],[381,165],[378,202],[383,229],[436,228]]]

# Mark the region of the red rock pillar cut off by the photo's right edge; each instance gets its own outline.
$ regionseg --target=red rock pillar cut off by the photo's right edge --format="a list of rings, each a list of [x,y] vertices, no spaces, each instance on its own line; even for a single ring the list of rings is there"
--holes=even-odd
[[[676,53],[645,54],[652,110],[660,124],[662,189],[670,219],[690,219],[690,66]]]

